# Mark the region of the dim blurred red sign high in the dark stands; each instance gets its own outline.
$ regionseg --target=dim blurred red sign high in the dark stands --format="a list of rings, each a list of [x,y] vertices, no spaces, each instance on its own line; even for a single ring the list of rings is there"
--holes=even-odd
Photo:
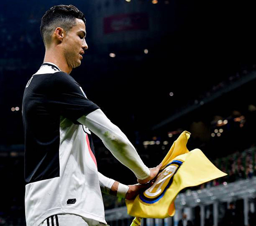
[[[146,13],[121,14],[104,18],[104,33],[148,29]]]

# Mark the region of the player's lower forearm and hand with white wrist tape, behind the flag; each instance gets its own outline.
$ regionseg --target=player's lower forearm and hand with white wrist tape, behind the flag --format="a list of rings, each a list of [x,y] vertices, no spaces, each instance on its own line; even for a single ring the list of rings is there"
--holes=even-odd
[[[103,174],[98,172],[100,181],[100,190],[102,193],[110,194],[126,199],[134,199],[139,192],[146,190],[151,184],[134,184],[124,185],[118,181],[105,177]]]

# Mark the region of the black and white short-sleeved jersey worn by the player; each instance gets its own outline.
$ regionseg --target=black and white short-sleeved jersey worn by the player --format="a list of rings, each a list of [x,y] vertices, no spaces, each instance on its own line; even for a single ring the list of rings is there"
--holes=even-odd
[[[28,81],[22,102],[28,226],[56,214],[106,223],[90,131],[76,121],[98,108],[52,63]]]

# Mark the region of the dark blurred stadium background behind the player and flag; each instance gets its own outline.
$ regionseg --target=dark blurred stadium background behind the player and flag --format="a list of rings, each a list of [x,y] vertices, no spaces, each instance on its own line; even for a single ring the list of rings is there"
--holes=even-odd
[[[176,217],[143,225],[178,225],[182,213],[194,225],[255,225],[255,3],[194,0],[1,2],[0,225],[26,225],[22,95],[44,56],[40,19],[58,4],[77,6],[87,20],[89,49],[71,75],[147,166],[188,130],[189,149],[228,173],[183,191]],[[99,171],[136,183],[97,137],[94,144]],[[110,225],[130,225],[124,200],[104,200]]]

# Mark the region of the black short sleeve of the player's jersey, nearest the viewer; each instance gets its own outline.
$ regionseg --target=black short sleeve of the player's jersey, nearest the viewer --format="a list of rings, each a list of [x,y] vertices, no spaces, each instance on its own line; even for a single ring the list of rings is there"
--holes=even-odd
[[[82,87],[67,73],[52,74],[50,90],[46,98],[55,112],[78,124],[77,119],[99,109],[89,101]]]

